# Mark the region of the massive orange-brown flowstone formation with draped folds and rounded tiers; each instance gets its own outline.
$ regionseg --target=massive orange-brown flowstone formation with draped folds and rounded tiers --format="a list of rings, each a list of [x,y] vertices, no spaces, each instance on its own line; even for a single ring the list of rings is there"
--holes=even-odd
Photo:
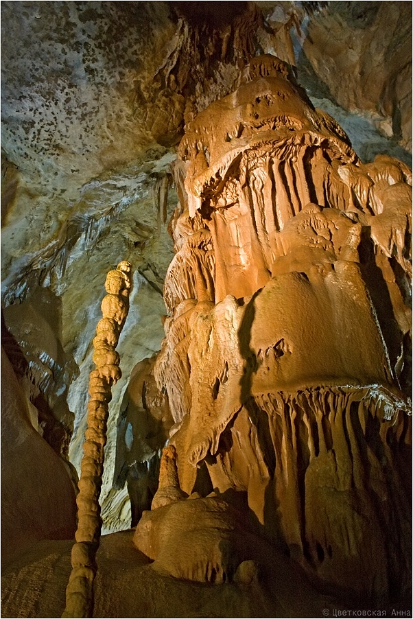
[[[187,125],[180,159],[153,370],[174,426],[135,545],[210,583],[259,579],[273,547],[344,600],[403,598],[410,170],[359,161],[274,56]]]

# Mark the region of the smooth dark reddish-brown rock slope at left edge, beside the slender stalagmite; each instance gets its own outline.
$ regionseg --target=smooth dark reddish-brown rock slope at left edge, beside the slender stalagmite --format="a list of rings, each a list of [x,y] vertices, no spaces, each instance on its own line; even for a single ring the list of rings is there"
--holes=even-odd
[[[69,539],[76,526],[68,465],[31,423],[29,399],[1,349],[1,546],[7,565],[42,539]]]

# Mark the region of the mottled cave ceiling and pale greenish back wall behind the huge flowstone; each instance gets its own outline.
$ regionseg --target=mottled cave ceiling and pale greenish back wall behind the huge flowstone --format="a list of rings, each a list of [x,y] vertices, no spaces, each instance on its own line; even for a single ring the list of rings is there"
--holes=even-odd
[[[115,418],[134,364],[161,344],[185,123],[233,91],[250,58],[276,54],[363,161],[387,152],[410,165],[411,5],[3,1],[1,11],[3,311],[50,408],[75,426],[78,464],[91,340],[120,260],[134,282]]]

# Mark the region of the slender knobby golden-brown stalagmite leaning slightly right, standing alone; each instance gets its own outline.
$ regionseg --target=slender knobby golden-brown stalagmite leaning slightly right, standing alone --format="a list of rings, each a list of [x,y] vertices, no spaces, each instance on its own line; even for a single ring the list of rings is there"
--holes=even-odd
[[[88,425],[85,432],[78,494],[78,530],[71,553],[72,571],[66,589],[66,608],[62,617],[93,616],[93,580],[97,564],[102,518],[99,494],[102,486],[106,424],[111,388],[121,377],[119,354],[115,351],[129,309],[131,264],[119,262],[106,276],[108,294],[102,301],[103,318],[93,340],[96,369],[89,379]]]

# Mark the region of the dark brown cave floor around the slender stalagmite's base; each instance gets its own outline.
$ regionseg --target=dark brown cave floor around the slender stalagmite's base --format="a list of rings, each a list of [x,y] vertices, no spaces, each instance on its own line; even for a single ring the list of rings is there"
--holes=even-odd
[[[266,569],[250,583],[194,583],[156,569],[134,548],[133,534],[134,530],[127,530],[101,539],[93,617],[316,618],[327,616],[327,610],[333,616],[334,609],[346,608],[333,596],[316,592],[281,554],[269,553],[272,558]],[[40,541],[3,567],[1,617],[62,616],[72,546],[72,540]]]

